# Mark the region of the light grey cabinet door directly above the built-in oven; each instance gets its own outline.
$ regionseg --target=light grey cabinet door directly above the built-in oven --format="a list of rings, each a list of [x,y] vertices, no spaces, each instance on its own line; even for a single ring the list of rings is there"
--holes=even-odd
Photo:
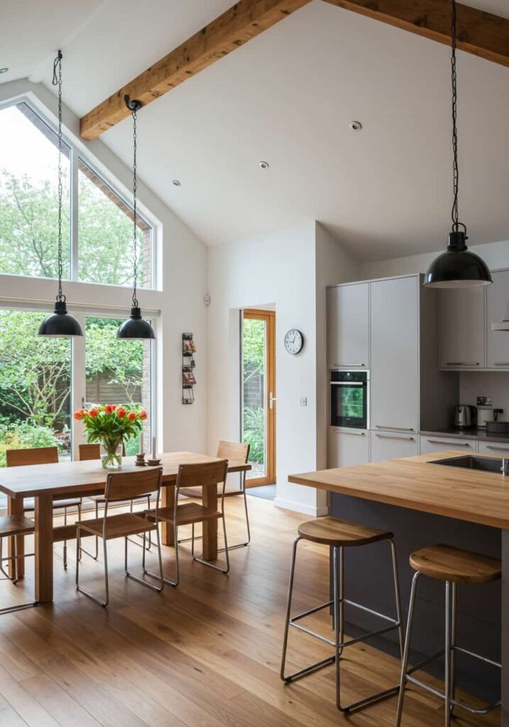
[[[369,283],[327,289],[329,369],[369,369]]]

